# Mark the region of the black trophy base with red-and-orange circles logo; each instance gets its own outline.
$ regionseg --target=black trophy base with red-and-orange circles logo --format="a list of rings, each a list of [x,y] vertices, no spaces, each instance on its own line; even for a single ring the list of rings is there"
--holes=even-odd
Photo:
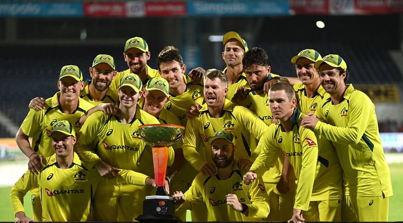
[[[143,214],[139,215],[136,220],[143,222],[165,221],[177,222],[179,218],[174,216],[175,202],[170,196],[146,196],[143,201]]]

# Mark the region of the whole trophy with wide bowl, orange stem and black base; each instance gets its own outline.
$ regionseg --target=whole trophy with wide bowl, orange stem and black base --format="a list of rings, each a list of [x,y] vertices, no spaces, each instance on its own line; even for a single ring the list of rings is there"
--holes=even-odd
[[[185,127],[169,124],[139,126],[140,136],[153,148],[154,178],[156,195],[146,196],[143,201],[143,214],[138,221],[178,221],[173,215],[175,203],[167,196],[164,185],[168,164],[169,146],[183,137]]]

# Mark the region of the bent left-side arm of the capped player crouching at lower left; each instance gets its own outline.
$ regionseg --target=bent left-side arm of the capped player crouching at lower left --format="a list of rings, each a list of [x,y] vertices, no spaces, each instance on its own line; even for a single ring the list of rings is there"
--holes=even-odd
[[[34,187],[38,187],[38,175],[31,174],[29,171],[27,171],[11,188],[11,206],[16,218],[21,220],[20,222],[27,222],[25,221],[27,219],[24,210],[24,196],[31,188]]]

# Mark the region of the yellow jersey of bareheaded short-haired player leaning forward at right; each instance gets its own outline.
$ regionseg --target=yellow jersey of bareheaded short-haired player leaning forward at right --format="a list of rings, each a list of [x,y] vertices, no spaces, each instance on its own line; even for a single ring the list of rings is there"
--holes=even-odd
[[[295,108],[290,132],[285,132],[281,124],[268,127],[263,139],[259,141],[261,152],[250,170],[261,176],[267,167],[274,166],[278,150],[282,149],[298,180],[294,208],[308,210],[315,179],[318,146],[315,133],[300,126],[303,116],[299,109]]]

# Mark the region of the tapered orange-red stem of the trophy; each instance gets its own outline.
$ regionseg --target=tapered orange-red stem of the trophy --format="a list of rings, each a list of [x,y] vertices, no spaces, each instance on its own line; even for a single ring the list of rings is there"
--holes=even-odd
[[[154,178],[157,186],[165,185],[168,165],[168,147],[153,147]],[[166,195],[166,194],[164,194]]]

